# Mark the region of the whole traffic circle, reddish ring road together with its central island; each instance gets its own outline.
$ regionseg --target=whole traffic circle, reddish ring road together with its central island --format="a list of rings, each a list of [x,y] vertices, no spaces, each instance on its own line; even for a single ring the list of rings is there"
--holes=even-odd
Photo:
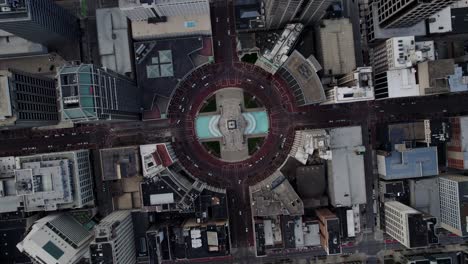
[[[194,177],[215,186],[258,182],[283,164],[294,129],[293,97],[259,67],[209,64],[186,76],[171,96],[173,148]]]

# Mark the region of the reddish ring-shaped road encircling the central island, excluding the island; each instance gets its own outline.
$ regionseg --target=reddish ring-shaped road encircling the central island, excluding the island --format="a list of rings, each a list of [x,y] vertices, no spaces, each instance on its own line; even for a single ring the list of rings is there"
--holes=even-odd
[[[226,162],[208,154],[194,129],[203,102],[228,87],[257,97],[269,115],[270,130],[263,146],[240,162]],[[173,147],[184,167],[211,185],[226,188],[239,180],[252,185],[268,177],[286,159],[294,139],[293,111],[289,89],[262,69],[244,63],[206,65],[187,76],[172,96],[168,113],[174,128]]]

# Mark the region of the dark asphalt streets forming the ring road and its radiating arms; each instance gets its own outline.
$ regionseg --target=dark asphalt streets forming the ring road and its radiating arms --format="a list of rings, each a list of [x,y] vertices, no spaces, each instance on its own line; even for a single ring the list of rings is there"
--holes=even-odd
[[[468,93],[326,106],[292,106],[288,97],[290,95],[287,91],[281,90],[284,87],[280,80],[275,76],[265,75],[255,67],[237,62],[232,2],[217,0],[212,4],[211,12],[216,63],[202,67],[183,80],[180,91],[171,101],[173,107],[178,110],[170,115],[169,120],[89,124],[45,131],[31,129],[0,131],[0,155],[28,155],[75,149],[96,150],[174,140],[174,148],[179,150],[179,159],[188,170],[193,170],[194,175],[202,180],[221,185],[228,190],[232,244],[234,248],[247,252],[233,260],[233,263],[258,263],[258,259],[252,258],[246,251],[253,245],[248,186],[268,176],[271,170],[276,170],[282,164],[289,152],[288,144],[282,142],[287,140],[286,142],[290,144],[294,130],[362,126],[364,144],[368,150],[365,156],[368,194],[366,224],[369,228],[373,228],[374,217],[370,212],[372,212],[372,183],[376,176],[373,174],[374,164],[370,150],[375,147],[373,145],[375,125],[468,114],[466,107]],[[242,164],[218,166],[219,163],[205,155],[203,151],[200,152],[193,134],[193,117],[197,107],[207,95],[229,86],[242,87],[257,95],[265,103],[272,116],[272,131],[268,137],[270,140],[268,146],[252,160]],[[198,170],[194,168],[194,164],[197,164],[198,167],[195,168]],[[99,183],[96,186],[97,191],[105,188]],[[107,198],[102,196],[102,199]],[[105,201],[100,203],[100,206],[106,204]],[[104,206],[107,212],[106,208],[107,205]],[[388,247],[397,246],[367,240],[346,247],[344,251],[366,252],[373,255]],[[293,258],[297,256],[302,259],[321,255],[323,251],[320,250],[292,254]],[[272,260],[281,258],[284,257],[272,257]],[[265,258],[262,261],[268,263],[267,260],[268,258]]]

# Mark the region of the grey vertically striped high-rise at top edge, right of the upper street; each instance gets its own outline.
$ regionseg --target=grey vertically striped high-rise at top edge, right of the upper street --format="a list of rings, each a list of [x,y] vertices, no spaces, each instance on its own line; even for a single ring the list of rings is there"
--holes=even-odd
[[[266,0],[267,28],[282,28],[290,22],[304,25],[317,23],[330,6],[331,0]]]

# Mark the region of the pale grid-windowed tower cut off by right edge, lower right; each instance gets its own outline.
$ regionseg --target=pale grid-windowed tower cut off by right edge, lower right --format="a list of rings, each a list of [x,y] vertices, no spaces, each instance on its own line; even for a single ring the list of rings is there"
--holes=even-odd
[[[468,235],[468,177],[439,177],[441,226],[458,236]]]

